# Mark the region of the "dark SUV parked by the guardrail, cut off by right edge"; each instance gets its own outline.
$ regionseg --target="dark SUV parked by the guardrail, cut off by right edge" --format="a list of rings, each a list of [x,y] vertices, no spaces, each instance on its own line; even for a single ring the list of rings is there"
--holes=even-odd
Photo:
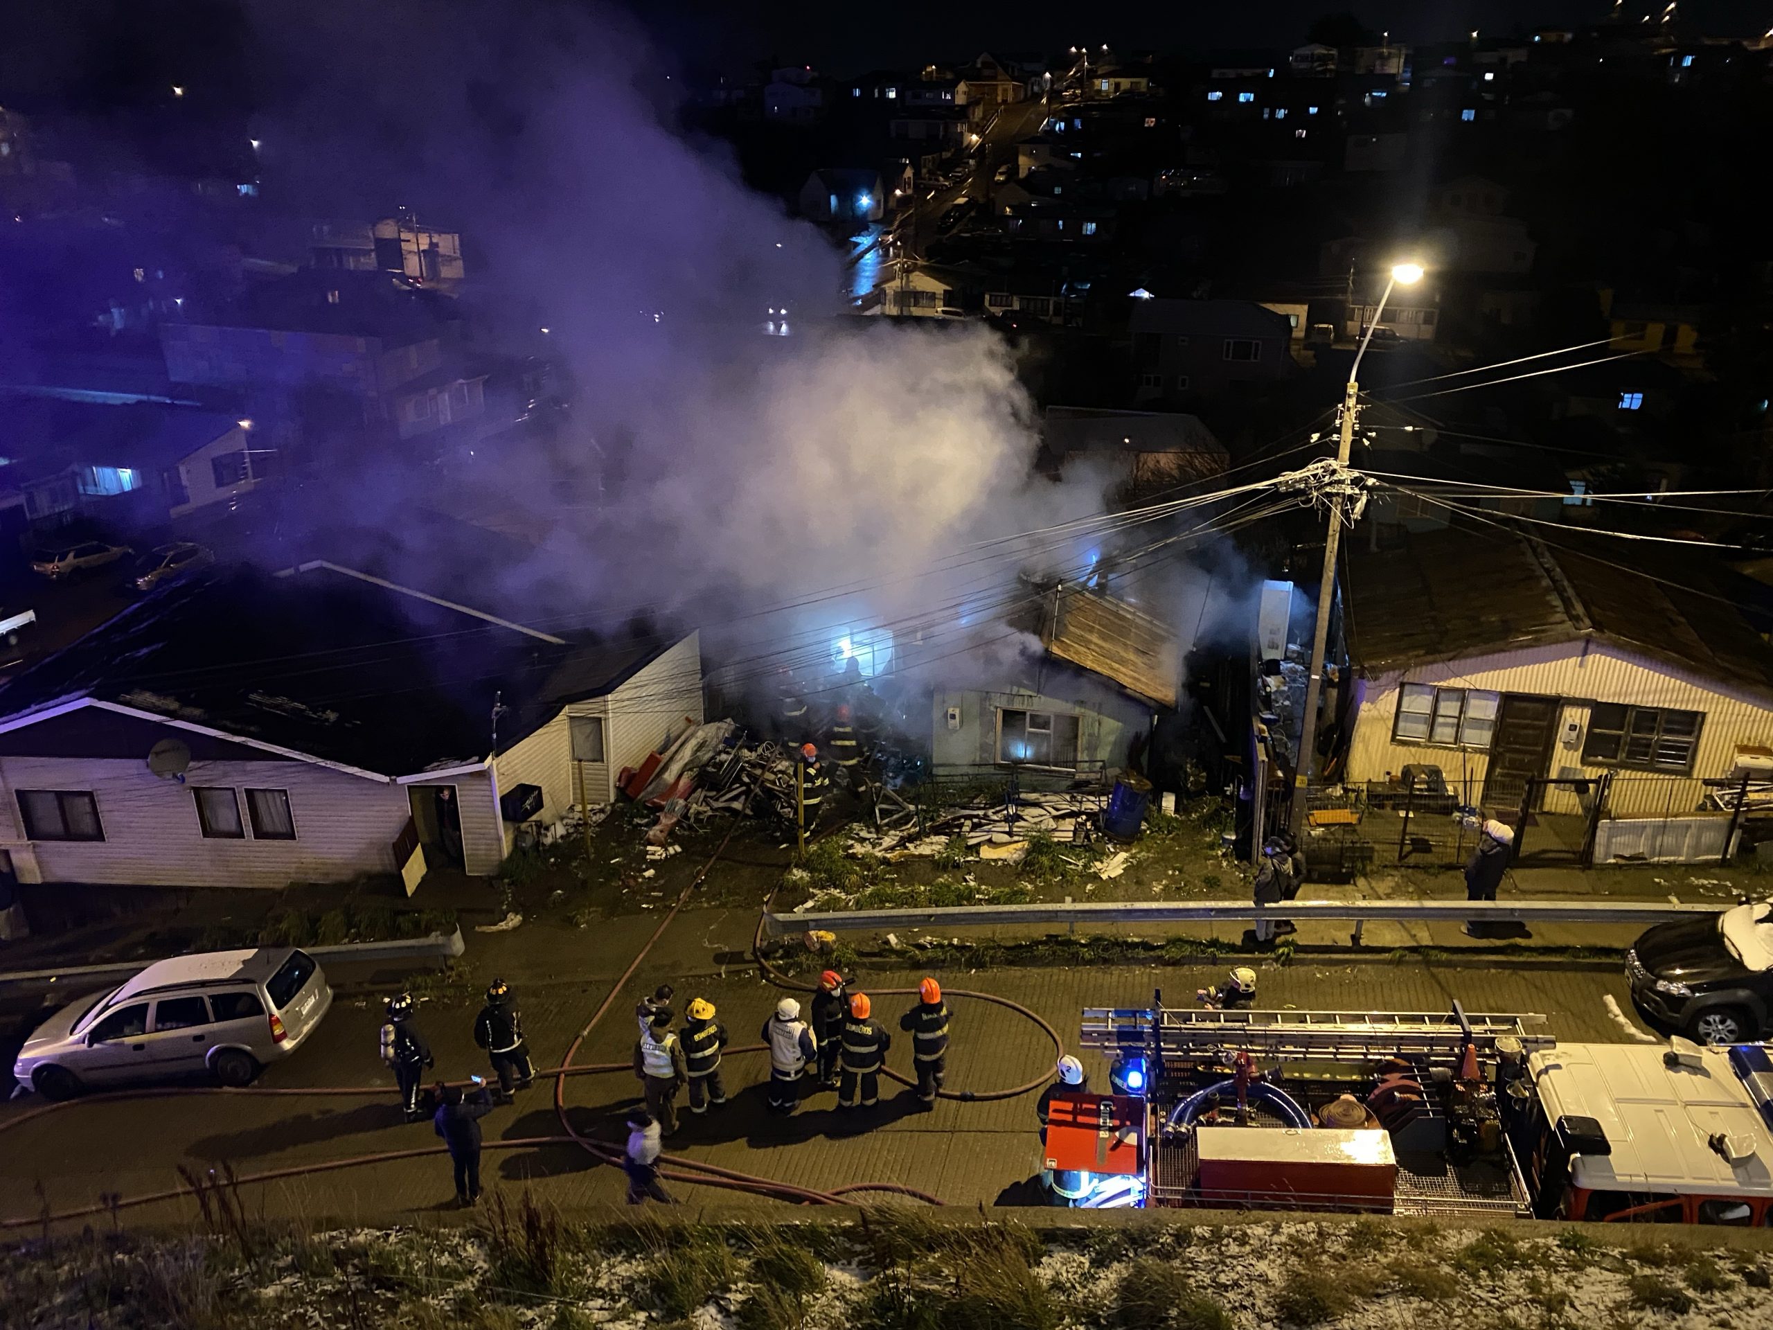
[[[1631,1000],[1707,1044],[1750,1043],[1773,1011],[1773,901],[1658,924],[1626,952]]]

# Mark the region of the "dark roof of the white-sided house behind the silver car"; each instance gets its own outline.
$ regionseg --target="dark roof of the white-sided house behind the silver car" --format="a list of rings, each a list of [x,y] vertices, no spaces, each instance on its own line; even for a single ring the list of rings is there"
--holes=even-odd
[[[619,688],[663,638],[543,637],[309,566],[172,583],[0,688],[7,729],[105,702],[379,777],[475,764],[564,702]]]

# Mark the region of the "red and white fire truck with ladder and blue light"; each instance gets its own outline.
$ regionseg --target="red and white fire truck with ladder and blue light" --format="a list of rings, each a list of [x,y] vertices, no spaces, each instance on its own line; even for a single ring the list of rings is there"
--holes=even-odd
[[[1544,1016],[1092,1007],[1057,1204],[1773,1227],[1768,1046],[1558,1043]]]

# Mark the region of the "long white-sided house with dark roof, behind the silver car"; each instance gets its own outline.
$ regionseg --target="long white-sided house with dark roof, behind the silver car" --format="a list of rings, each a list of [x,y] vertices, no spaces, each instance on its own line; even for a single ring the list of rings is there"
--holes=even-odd
[[[27,883],[493,872],[702,718],[695,637],[576,640],[332,564],[176,583],[7,685]],[[495,739],[496,734],[496,739]]]

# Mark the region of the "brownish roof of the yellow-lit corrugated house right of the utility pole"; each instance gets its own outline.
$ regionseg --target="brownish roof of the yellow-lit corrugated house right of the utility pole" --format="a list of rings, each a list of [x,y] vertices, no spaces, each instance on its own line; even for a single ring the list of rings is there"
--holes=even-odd
[[[1773,647],[1718,591],[1723,569],[1675,546],[1551,539],[1449,527],[1408,536],[1402,552],[1344,546],[1349,660],[1381,674],[1597,642],[1773,699]]]

